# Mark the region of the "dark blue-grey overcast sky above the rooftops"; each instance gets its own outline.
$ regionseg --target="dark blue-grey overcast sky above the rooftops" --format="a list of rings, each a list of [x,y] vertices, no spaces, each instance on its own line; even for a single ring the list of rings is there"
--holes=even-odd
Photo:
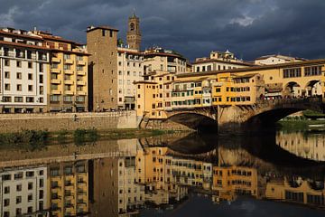
[[[325,58],[325,0],[0,0],[0,26],[34,26],[86,43],[88,25],[107,24],[125,39],[141,19],[142,49],[159,45],[190,60],[210,51],[250,61],[281,53]]]

